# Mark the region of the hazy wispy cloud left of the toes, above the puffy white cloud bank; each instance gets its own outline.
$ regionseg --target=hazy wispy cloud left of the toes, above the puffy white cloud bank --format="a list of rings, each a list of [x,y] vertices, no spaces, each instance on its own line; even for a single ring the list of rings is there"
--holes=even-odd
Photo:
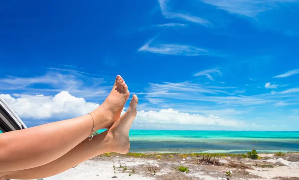
[[[53,94],[68,91],[77,97],[103,98],[109,93],[111,86],[104,86],[104,78],[92,76],[92,74],[75,70],[51,68],[45,75],[34,77],[0,78],[0,90],[13,91],[29,94]],[[85,76],[87,74],[88,76]]]

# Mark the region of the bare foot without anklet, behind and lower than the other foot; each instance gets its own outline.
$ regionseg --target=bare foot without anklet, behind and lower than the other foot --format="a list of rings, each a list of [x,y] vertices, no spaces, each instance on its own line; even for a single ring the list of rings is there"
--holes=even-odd
[[[138,98],[136,95],[133,95],[130,102],[130,107],[126,113],[120,117],[112,127],[108,130],[107,138],[109,138],[111,144],[111,151],[126,154],[130,149],[129,142],[129,130],[136,117],[136,106],[138,103]]]

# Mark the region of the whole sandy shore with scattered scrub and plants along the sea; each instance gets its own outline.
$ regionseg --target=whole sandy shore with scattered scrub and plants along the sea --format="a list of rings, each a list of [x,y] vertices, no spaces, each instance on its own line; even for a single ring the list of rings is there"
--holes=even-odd
[[[60,176],[63,180],[299,180],[299,152],[258,155],[251,159],[228,153],[106,153]]]

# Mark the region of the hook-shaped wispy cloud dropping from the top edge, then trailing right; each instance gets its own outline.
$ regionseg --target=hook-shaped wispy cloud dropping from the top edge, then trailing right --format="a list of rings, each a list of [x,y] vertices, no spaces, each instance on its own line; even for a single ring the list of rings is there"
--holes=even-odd
[[[162,14],[164,15],[164,17],[166,17],[168,19],[178,18],[178,19],[193,22],[193,23],[196,23],[196,24],[201,24],[201,25],[204,25],[204,26],[210,26],[211,25],[211,22],[209,22],[208,20],[206,20],[204,18],[201,18],[201,17],[192,16],[190,14],[169,12],[168,7],[167,7],[167,3],[169,3],[169,0],[158,0],[158,1],[159,1],[159,4],[160,4]]]

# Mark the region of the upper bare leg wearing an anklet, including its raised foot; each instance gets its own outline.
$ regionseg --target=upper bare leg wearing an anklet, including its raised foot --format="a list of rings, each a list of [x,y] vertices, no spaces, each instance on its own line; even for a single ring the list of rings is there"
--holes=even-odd
[[[107,99],[91,112],[95,129],[111,127],[128,97],[127,85],[117,76]],[[92,124],[88,114],[0,134],[0,172],[29,169],[56,160],[86,139],[91,134]]]

